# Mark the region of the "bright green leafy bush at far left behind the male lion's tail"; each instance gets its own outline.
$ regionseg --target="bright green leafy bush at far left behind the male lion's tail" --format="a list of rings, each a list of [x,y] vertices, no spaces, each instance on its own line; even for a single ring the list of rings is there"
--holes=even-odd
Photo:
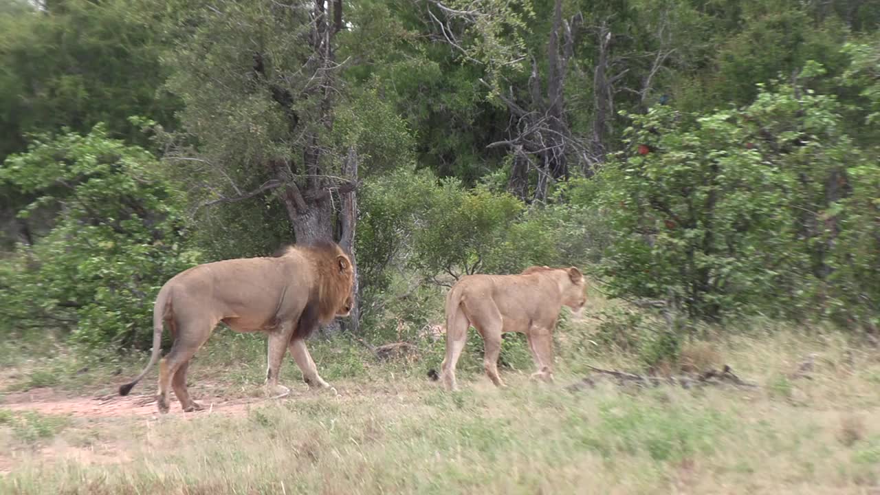
[[[0,181],[37,196],[18,216],[47,204],[59,213],[39,242],[0,263],[4,319],[89,344],[149,345],[159,287],[198,259],[186,247],[180,200],[157,172],[148,151],[100,126],[35,137],[6,159]]]

